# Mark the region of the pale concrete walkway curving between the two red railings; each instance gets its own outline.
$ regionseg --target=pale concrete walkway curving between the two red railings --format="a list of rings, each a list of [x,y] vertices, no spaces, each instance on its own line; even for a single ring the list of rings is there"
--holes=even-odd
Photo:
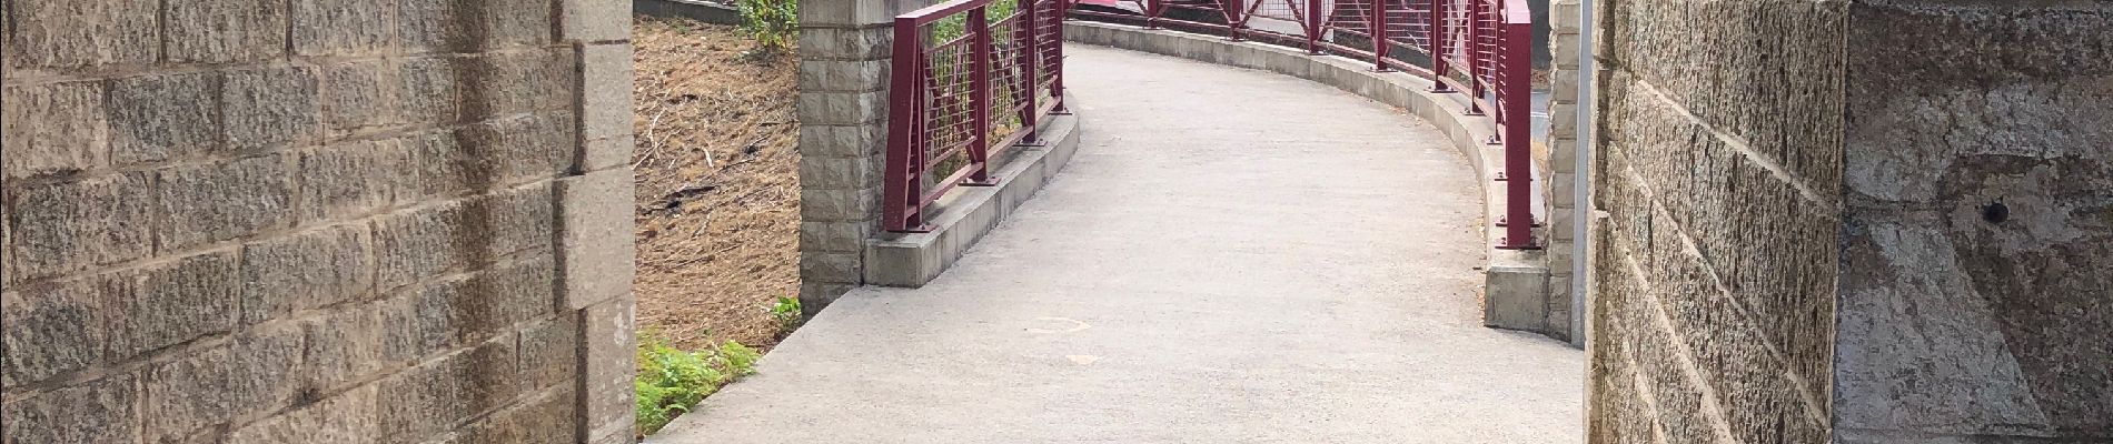
[[[1583,354],[1479,326],[1479,189],[1314,82],[1067,46],[1078,158],[649,442],[1583,442]]]

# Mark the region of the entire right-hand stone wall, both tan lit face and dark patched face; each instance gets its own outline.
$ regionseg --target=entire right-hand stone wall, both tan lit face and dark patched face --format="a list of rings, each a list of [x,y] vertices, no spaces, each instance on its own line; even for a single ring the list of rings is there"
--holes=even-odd
[[[2105,2],[1600,11],[1591,442],[2113,440]]]

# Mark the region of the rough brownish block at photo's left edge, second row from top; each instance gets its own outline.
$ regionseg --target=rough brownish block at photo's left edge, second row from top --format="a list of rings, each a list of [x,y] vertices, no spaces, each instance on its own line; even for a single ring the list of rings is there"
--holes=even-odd
[[[6,86],[0,109],[0,156],[6,177],[72,175],[108,164],[110,122],[104,86],[57,82]]]

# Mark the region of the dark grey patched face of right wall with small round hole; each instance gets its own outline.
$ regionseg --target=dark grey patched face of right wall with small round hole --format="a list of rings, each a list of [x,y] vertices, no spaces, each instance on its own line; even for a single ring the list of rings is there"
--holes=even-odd
[[[1862,0],[1847,42],[1836,436],[2113,442],[2113,2]]]

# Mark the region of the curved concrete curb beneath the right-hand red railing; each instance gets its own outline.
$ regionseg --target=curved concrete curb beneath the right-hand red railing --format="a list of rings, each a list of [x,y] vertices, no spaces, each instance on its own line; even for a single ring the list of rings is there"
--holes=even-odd
[[[1314,57],[1274,44],[1232,42],[1217,36],[1143,29],[1135,25],[1065,21],[1065,40],[1276,72],[1403,107],[1445,133],[1454,147],[1475,166],[1475,175],[1483,183],[1483,221],[1496,221],[1504,213],[1504,187],[1496,181],[1504,149],[1485,143],[1494,135],[1490,118],[1469,116],[1466,103],[1458,95],[1431,95],[1431,80],[1399,72],[1371,72],[1371,63],[1367,61],[1327,55]],[[1534,181],[1542,181],[1540,175],[1536,170]],[[1538,187],[1536,194],[1540,194]],[[1545,200],[1536,198],[1536,206],[1540,202]],[[1536,210],[1536,215],[1547,213]],[[1549,314],[1555,303],[1570,307],[1570,301],[1549,299],[1547,255],[1542,250],[1494,248],[1502,231],[1490,227],[1494,225],[1481,225],[1490,246],[1490,263],[1483,267],[1483,324],[1566,339],[1564,332],[1570,330],[1570,320],[1551,322]]]

